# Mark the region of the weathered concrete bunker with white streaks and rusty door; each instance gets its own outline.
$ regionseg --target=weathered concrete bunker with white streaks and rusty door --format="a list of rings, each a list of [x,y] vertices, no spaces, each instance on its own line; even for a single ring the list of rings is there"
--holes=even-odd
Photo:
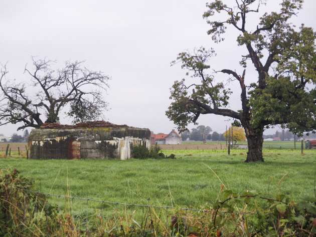
[[[104,121],[76,125],[43,124],[29,136],[30,159],[121,159],[133,146],[150,148],[150,130]]]

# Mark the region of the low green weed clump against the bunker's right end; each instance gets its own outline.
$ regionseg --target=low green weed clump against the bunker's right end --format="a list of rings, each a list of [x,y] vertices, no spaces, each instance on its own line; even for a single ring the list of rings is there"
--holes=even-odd
[[[175,159],[176,155],[165,155],[161,152],[161,147],[155,144],[150,149],[147,149],[144,145],[134,146],[132,157],[135,159]]]

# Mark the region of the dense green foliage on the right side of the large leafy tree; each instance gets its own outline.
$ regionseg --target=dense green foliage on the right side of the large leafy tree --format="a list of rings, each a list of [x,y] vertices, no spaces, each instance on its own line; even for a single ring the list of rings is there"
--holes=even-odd
[[[283,54],[276,56],[280,76],[267,77],[264,89],[251,91],[249,104],[253,108],[252,124],[257,125],[263,119],[301,136],[316,127],[316,92],[307,86],[316,80],[316,37],[312,29],[302,25],[291,39]]]

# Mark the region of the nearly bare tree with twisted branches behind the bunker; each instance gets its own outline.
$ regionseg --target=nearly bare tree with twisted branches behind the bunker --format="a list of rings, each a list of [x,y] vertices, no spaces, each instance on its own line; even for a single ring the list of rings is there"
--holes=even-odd
[[[25,68],[27,82],[6,78],[6,66],[0,79],[0,125],[22,123],[18,128],[40,127],[56,123],[62,112],[74,123],[102,119],[107,109],[103,93],[108,76],[82,66],[83,62],[66,62],[62,69],[53,69],[54,61],[34,60],[33,69]],[[45,117],[45,120],[43,120]]]

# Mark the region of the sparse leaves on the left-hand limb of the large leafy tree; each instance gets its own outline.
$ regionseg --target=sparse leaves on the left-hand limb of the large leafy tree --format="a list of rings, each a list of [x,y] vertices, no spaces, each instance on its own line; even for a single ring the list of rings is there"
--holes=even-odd
[[[215,107],[226,106],[228,104],[228,95],[230,89],[225,89],[223,82],[216,83],[212,75],[205,73],[209,68],[206,65],[210,57],[214,57],[214,50],[206,50],[205,48],[195,49],[193,53],[184,52],[178,55],[175,63],[182,63],[182,68],[187,69],[187,76],[197,78],[198,83],[190,86],[186,85],[186,79],[176,81],[171,88],[170,99],[174,102],[166,111],[169,119],[173,120],[178,125],[178,131],[183,132],[189,123],[196,123],[200,114],[208,113],[207,107],[200,108],[196,101],[202,103],[211,103]],[[189,92],[190,87],[192,93]],[[209,99],[209,97],[211,99]]]

